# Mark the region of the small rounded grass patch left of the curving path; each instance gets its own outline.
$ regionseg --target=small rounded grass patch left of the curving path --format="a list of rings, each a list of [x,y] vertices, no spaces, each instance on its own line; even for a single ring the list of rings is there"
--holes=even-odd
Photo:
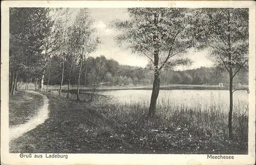
[[[16,91],[9,97],[9,127],[24,124],[36,115],[44,99],[36,94]]]

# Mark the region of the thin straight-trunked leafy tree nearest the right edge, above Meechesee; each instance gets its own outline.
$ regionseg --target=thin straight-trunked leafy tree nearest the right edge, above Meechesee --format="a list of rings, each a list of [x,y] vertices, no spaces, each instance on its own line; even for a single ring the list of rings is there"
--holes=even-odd
[[[210,58],[229,75],[229,139],[233,139],[233,78],[248,70],[249,10],[245,8],[202,9],[194,28],[200,47],[211,49]]]

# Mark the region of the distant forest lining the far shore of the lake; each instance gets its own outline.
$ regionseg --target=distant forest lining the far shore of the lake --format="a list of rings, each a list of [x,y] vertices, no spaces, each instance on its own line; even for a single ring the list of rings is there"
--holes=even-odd
[[[120,65],[113,59],[106,59],[104,56],[88,57],[83,60],[81,70],[81,85],[87,86],[97,83],[105,83],[106,86],[145,86],[152,85],[154,74],[152,70],[136,66]],[[71,85],[77,83],[78,66],[70,70],[71,61],[65,61],[66,75],[63,77],[63,84],[68,84],[68,74],[71,73]],[[49,78],[50,75],[50,78]],[[45,84],[60,84],[61,59],[58,56],[52,58],[47,68]],[[228,84],[228,74],[221,73],[215,67],[200,67],[182,71],[162,70],[160,75],[161,85],[169,84]],[[248,84],[248,73],[242,73],[234,77],[234,83]]]

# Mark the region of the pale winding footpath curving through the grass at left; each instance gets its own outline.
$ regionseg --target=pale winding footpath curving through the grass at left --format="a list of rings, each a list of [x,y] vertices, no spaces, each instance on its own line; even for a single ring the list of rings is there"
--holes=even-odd
[[[49,100],[45,95],[42,95],[41,93],[32,91],[32,90],[27,90],[26,92],[29,93],[35,93],[36,95],[42,96],[44,98],[44,105],[40,107],[38,110],[37,114],[33,116],[27,123],[25,124],[20,124],[17,126],[13,126],[9,129],[9,139],[13,140],[15,138],[18,138],[22,136],[24,133],[36,128],[39,124],[42,124],[45,122],[45,120],[48,119],[48,105],[49,105]]]

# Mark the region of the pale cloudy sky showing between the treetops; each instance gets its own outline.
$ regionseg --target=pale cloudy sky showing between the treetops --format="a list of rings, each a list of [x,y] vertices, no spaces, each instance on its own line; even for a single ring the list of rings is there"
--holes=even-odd
[[[131,53],[125,48],[120,48],[114,41],[114,37],[117,34],[117,30],[110,27],[110,23],[115,19],[125,20],[129,16],[125,12],[125,8],[90,8],[90,12],[95,19],[94,27],[98,30],[98,35],[102,41],[98,50],[91,54],[96,57],[104,55],[106,58],[112,58],[118,61],[120,64],[133,65],[133,66],[145,66],[147,64],[147,58],[138,56]],[[191,49],[186,53],[194,63],[188,67],[176,67],[176,69],[192,69],[201,66],[209,67],[212,65],[211,61],[206,58],[207,51],[196,52]]]

